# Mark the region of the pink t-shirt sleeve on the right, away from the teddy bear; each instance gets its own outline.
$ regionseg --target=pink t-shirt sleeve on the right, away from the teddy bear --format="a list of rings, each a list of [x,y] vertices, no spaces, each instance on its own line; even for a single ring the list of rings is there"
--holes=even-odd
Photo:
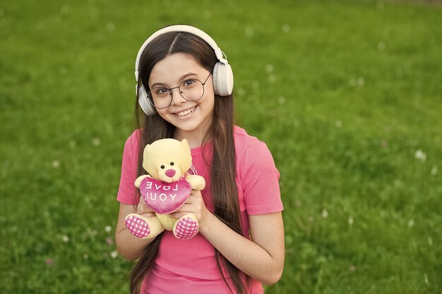
[[[280,172],[264,142],[256,140],[247,146],[242,173],[248,214],[270,214],[284,209],[278,183]]]

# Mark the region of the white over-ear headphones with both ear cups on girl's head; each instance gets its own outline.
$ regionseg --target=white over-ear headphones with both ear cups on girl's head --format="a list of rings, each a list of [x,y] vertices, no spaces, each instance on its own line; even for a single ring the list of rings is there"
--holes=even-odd
[[[135,89],[138,97],[138,103],[140,104],[141,109],[143,109],[146,115],[152,116],[153,114],[156,114],[157,111],[155,107],[149,102],[148,92],[145,90],[144,86],[141,85],[141,87],[138,89],[138,73],[140,71],[141,55],[143,55],[145,47],[147,47],[148,44],[153,41],[153,39],[167,32],[189,32],[193,35],[196,35],[197,37],[200,37],[205,42],[207,42],[210,45],[210,47],[212,47],[212,49],[215,51],[215,56],[218,59],[218,62],[215,63],[215,66],[213,67],[213,73],[212,73],[213,89],[215,90],[215,94],[220,96],[228,96],[229,94],[232,94],[233,90],[232,68],[230,67],[229,62],[227,62],[227,59],[224,58],[225,54],[221,51],[220,47],[217,46],[215,41],[205,32],[197,29],[196,27],[192,27],[190,25],[170,25],[169,27],[162,28],[161,30],[158,30],[157,32],[153,33],[153,35],[151,35],[144,42],[143,46],[141,46],[136,56],[135,79],[137,81],[137,85],[135,86]]]

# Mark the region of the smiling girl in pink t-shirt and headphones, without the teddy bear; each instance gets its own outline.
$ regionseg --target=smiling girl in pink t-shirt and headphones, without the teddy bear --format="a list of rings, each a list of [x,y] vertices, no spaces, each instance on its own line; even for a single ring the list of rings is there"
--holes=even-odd
[[[284,267],[280,175],[267,146],[234,125],[233,75],[220,48],[196,27],[165,27],[141,47],[136,78],[116,230],[119,253],[138,259],[131,293],[263,293],[261,283],[276,283]],[[199,232],[188,240],[172,231],[139,239],[124,223],[131,213],[154,215],[134,182],[145,173],[145,145],[165,137],[189,142],[206,182],[172,214],[196,215]]]

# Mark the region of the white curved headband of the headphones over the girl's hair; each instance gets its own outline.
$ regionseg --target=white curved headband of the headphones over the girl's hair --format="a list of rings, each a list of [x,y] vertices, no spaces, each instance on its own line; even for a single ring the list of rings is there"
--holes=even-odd
[[[215,41],[212,39],[212,37],[210,37],[208,34],[203,32],[202,30],[200,30],[196,27],[192,27],[191,25],[169,25],[168,27],[164,27],[161,30],[154,32],[153,35],[151,35],[147,40],[145,40],[145,42],[141,46],[140,50],[138,50],[138,54],[136,56],[136,61],[135,61],[135,78],[136,78],[137,82],[138,82],[138,73],[140,72],[140,69],[139,69],[140,59],[141,59],[141,55],[143,55],[143,51],[144,51],[145,47],[147,47],[148,44],[150,42],[152,42],[156,37],[163,35],[167,32],[189,32],[192,35],[196,35],[197,37],[200,37],[205,42],[207,42],[210,45],[210,47],[212,47],[213,51],[215,51],[216,58],[220,62],[224,63],[225,65],[228,64],[227,59],[223,58],[224,54],[222,53],[221,48],[218,47],[218,45],[215,43]]]

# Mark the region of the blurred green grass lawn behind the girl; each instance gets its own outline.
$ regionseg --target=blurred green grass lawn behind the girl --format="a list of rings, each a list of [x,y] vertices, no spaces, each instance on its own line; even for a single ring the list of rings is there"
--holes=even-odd
[[[0,293],[128,293],[114,227],[138,48],[196,25],[282,174],[266,293],[442,293],[439,1],[0,1]]]

